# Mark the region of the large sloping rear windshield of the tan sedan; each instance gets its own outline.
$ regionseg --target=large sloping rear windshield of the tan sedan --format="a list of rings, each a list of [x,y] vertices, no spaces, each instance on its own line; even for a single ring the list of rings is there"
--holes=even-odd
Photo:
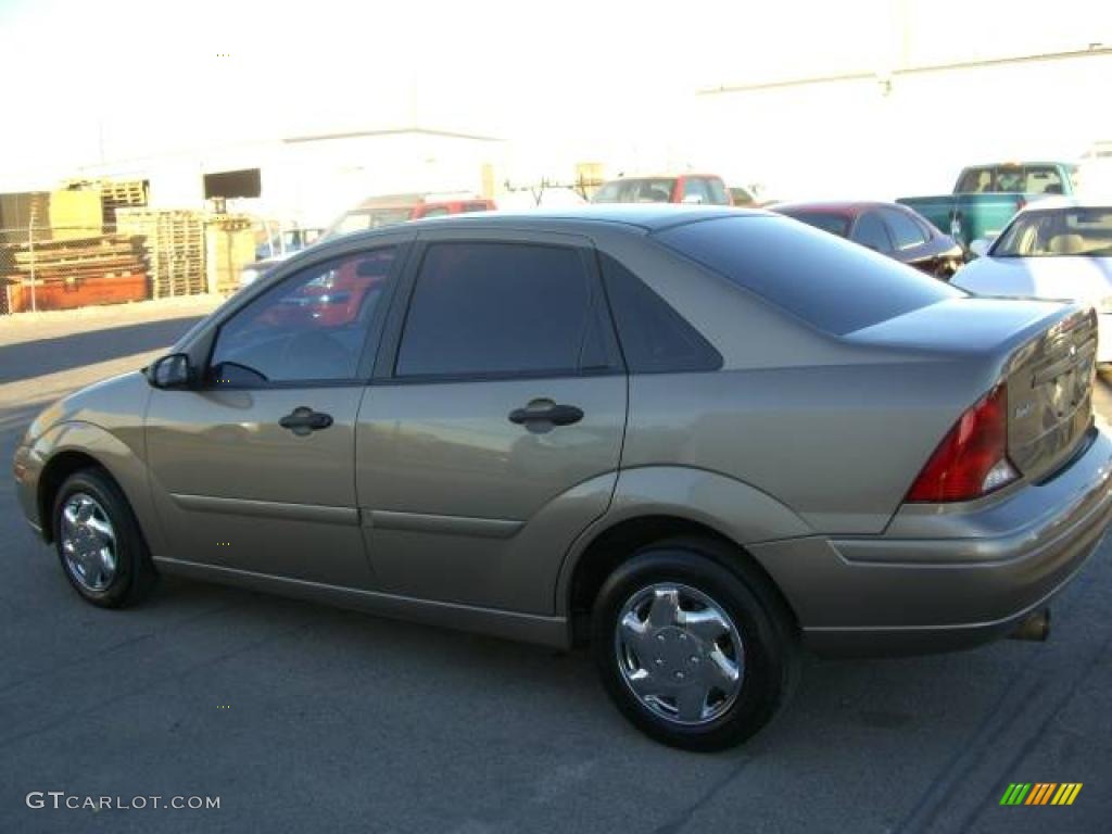
[[[786,218],[704,220],[664,229],[655,237],[738,287],[838,336],[965,295]]]

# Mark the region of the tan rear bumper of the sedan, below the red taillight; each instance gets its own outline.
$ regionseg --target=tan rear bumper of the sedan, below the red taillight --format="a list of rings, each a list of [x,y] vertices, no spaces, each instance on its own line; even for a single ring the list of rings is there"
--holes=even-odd
[[[882,536],[753,548],[824,654],[941,652],[1006,636],[1082,568],[1112,519],[1112,439],[1042,484],[907,505]]]

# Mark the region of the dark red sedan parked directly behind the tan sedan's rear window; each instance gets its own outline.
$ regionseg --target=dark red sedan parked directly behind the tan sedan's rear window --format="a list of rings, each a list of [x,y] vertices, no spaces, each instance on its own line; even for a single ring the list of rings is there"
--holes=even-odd
[[[784,202],[770,208],[943,280],[963,262],[953,238],[895,202]]]

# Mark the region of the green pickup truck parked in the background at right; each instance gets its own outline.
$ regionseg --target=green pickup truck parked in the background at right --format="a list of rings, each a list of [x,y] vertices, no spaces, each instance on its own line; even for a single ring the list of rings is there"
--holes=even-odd
[[[950,232],[966,252],[977,238],[999,235],[1029,202],[1072,195],[1078,166],[1070,162],[1001,162],[962,170],[953,193],[901,197],[901,202]]]

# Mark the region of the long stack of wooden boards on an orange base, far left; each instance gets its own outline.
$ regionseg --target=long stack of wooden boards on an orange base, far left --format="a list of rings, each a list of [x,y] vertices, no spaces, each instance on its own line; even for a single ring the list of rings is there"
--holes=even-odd
[[[140,240],[99,235],[10,246],[0,256],[0,284],[11,312],[148,297]]]

